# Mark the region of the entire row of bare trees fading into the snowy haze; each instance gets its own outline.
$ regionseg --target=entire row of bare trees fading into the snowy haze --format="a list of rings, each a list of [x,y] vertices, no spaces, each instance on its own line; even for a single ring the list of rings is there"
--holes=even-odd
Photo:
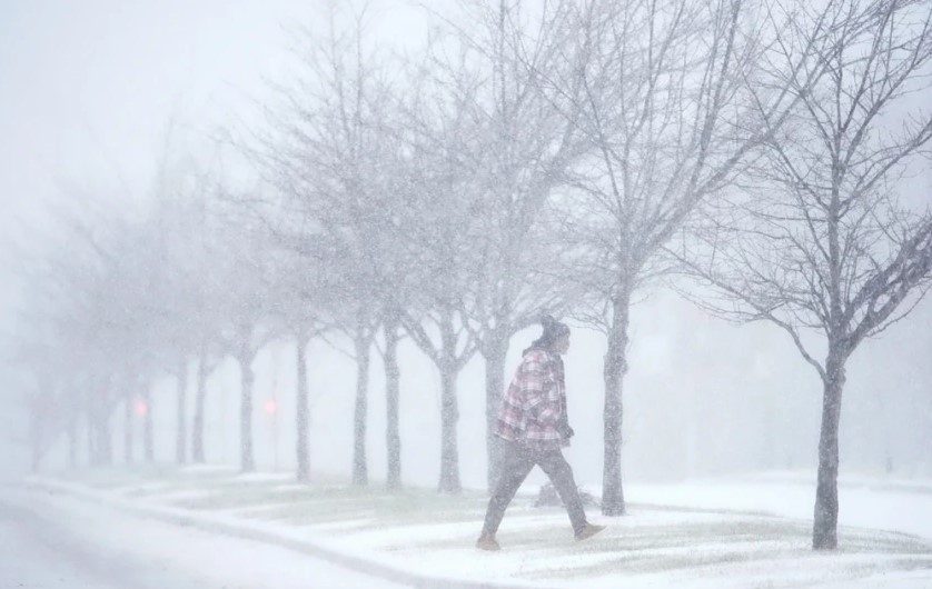
[[[325,31],[300,37],[300,69],[275,87],[264,123],[228,134],[256,171],[248,188],[165,162],[145,213],[72,222],[33,268],[22,350],[44,377],[36,390],[85,408],[106,461],[116,405],[175,373],[177,460],[190,431],[202,461],[205,381],[231,357],[251,470],[252,363],[287,338],[307,480],[307,345],[348,342],[351,472],[364,485],[375,349],[397,487],[407,337],[440,376],[438,489],[458,492],[457,375],[485,360],[492,485],[509,340],[543,311],[572,316],[606,336],[602,509],[619,516],[628,318],[637,294],[665,280],[716,313],[775,323],[819,372],[813,546],[834,548],[845,362],[932,283],[928,196],[903,198],[902,182],[932,139],[928,109],[909,102],[926,89],[930,2],[460,8],[429,14],[426,47],[405,59],[385,57],[365,12],[331,11]]]

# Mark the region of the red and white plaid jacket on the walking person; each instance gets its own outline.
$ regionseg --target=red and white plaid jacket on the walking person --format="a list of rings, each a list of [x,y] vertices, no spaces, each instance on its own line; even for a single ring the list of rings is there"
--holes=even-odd
[[[524,355],[502,398],[495,435],[532,449],[568,446],[557,427],[566,420],[563,360],[546,350]]]

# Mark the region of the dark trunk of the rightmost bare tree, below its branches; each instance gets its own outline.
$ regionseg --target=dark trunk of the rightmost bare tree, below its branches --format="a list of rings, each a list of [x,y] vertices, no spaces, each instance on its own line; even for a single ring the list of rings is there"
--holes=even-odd
[[[829,352],[825,375],[819,436],[819,481],[812,526],[812,547],[815,550],[834,550],[839,546],[839,419],[845,380],[841,355]]]

